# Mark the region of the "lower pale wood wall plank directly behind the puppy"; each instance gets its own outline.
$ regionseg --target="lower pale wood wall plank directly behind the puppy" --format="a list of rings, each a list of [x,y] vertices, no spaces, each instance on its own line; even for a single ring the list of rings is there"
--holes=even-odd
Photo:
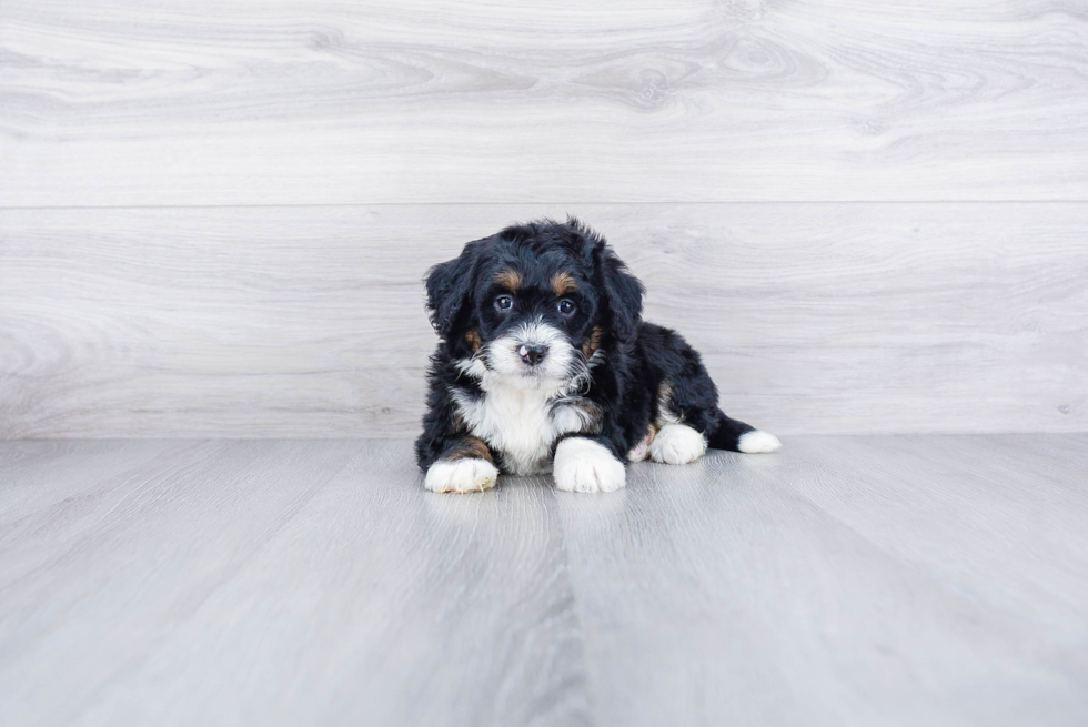
[[[426,269],[572,212],[778,433],[1088,428],[1088,205],[0,211],[0,435],[412,436]]]

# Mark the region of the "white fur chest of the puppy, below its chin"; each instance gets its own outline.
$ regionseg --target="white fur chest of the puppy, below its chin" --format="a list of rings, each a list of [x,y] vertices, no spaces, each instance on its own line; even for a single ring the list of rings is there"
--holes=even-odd
[[[455,391],[453,398],[469,432],[500,454],[513,474],[548,472],[560,436],[600,430],[600,410],[584,398],[506,386],[480,396]]]

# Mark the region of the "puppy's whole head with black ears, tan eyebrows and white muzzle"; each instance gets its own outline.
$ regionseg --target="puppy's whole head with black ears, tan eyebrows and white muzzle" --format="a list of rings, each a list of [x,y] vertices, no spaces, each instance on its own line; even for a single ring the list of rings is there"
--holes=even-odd
[[[568,386],[631,340],[643,286],[605,240],[570,219],[470,242],[426,279],[431,324],[465,374]]]

